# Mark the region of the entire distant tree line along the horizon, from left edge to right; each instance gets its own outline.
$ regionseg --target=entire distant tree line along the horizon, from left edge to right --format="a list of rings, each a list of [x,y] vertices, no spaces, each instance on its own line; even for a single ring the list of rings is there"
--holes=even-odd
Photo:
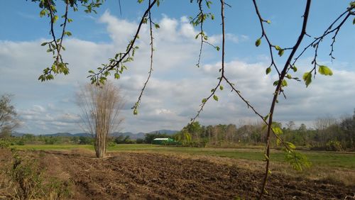
[[[296,126],[293,121],[284,125],[275,123],[282,128],[284,140],[297,145],[298,148],[310,150],[355,150],[355,109],[352,116],[318,118],[312,127],[305,124]],[[146,133],[144,138],[132,139],[129,135],[109,137],[108,145],[117,144],[151,144],[155,138],[173,138],[178,143],[189,147],[238,148],[245,145],[263,145],[266,141],[266,127],[261,122],[241,122],[235,124],[218,124],[202,126],[198,121],[188,123],[182,130],[171,135],[167,133]],[[4,135],[0,135],[0,138]],[[94,144],[90,137],[65,137],[25,134],[21,137],[6,136],[12,145],[24,144]],[[278,148],[276,138],[271,140],[273,148]]]

